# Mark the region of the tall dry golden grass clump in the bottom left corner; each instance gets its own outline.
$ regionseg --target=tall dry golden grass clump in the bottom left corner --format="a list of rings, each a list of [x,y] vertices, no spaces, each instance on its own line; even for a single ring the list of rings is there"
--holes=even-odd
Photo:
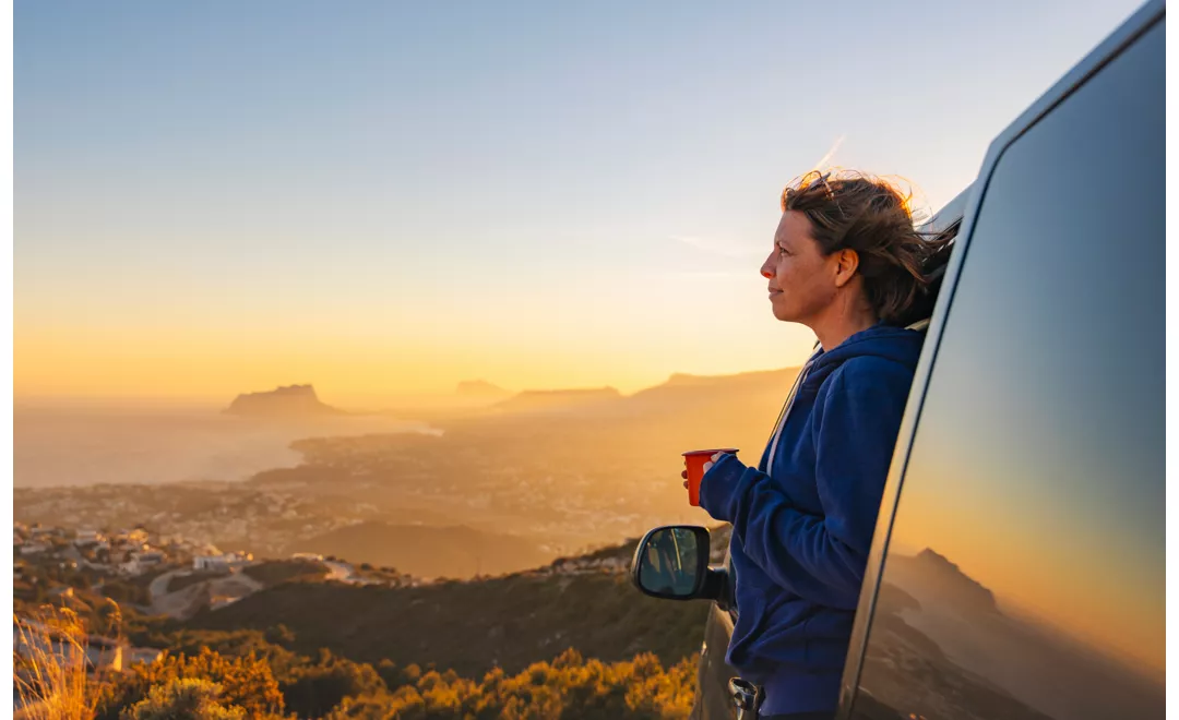
[[[118,606],[114,613],[118,617]],[[20,708],[15,716],[94,718],[106,671],[101,663],[92,667],[90,649],[85,627],[68,608],[44,606],[32,617],[13,615],[13,688]]]

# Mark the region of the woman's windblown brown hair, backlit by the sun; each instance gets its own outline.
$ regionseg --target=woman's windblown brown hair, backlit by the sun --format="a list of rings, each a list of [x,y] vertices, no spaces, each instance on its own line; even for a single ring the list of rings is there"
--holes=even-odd
[[[889,324],[928,304],[930,265],[942,265],[953,243],[951,232],[918,231],[911,203],[913,193],[895,183],[854,171],[811,171],[782,191],[782,211],[806,216],[824,256],[856,251],[868,303]]]

